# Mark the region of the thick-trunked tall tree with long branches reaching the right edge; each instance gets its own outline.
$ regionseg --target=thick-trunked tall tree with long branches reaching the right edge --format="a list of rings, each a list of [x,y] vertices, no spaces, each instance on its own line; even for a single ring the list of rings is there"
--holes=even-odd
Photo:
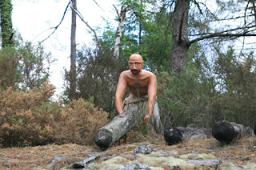
[[[226,38],[230,40],[240,37],[256,36],[254,1],[216,1],[215,4],[214,2],[207,4],[200,0],[168,0],[166,2],[172,2],[171,4],[175,5],[170,53],[170,73],[174,71],[179,74],[186,71],[187,52],[190,45],[194,42],[209,38]],[[222,12],[222,10],[217,8],[217,11],[211,12],[210,10],[216,10],[214,8],[216,4],[221,6],[225,11]],[[235,9],[236,7],[237,9]],[[217,14],[222,15],[217,16]],[[227,17],[227,14],[230,16]],[[242,19],[244,22],[242,22]],[[228,25],[228,22],[232,24]],[[238,25],[238,23],[242,24]],[[189,24],[194,27],[190,29],[190,34],[188,34]],[[217,26],[222,27],[218,29]],[[213,27],[214,30],[210,30],[210,27]],[[193,37],[195,38],[192,39]]]

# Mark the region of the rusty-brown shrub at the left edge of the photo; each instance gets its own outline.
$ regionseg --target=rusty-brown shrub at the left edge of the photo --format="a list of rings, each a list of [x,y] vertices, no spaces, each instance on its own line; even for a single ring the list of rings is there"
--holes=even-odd
[[[0,90],[0,144],[35,145],[50,140],[58,105],[50,105],[54,87],[45,82],[42,89],[20,92]]]

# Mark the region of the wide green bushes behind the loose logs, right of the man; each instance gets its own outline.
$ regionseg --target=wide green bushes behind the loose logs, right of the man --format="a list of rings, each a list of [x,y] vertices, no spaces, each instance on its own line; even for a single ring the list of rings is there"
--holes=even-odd
[[[215,50],[212,65],[201,53],[179,77],[156,73],[158,105],[165,126],[171,121],[174,126],[212,127],[223,120],[254,125],[256,61],[253,53],[236,56],[232,47],[225,53],[218,46]]]

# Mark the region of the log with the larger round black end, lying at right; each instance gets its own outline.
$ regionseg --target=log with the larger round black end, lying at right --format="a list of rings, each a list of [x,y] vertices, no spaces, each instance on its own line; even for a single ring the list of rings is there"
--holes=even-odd
[[[235,138],[250,135],[252,130],[250,127],[245,127],[234,122],[218,121],[213,127],[212,135],[215,139],[223,143],[230,143]]]

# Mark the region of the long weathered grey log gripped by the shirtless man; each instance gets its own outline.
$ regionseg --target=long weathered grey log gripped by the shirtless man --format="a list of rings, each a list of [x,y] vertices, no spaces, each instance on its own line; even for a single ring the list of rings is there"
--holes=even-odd
[[[120,137],[126,134],[134,125],[138,125],[143,118],[144,114],[139,113],[138,105],[131,106],[122,114],[114,117],[108,125],[100,128],[94,136],[94,141],[98,147],[106,149],[110,144],[119,140]]]

